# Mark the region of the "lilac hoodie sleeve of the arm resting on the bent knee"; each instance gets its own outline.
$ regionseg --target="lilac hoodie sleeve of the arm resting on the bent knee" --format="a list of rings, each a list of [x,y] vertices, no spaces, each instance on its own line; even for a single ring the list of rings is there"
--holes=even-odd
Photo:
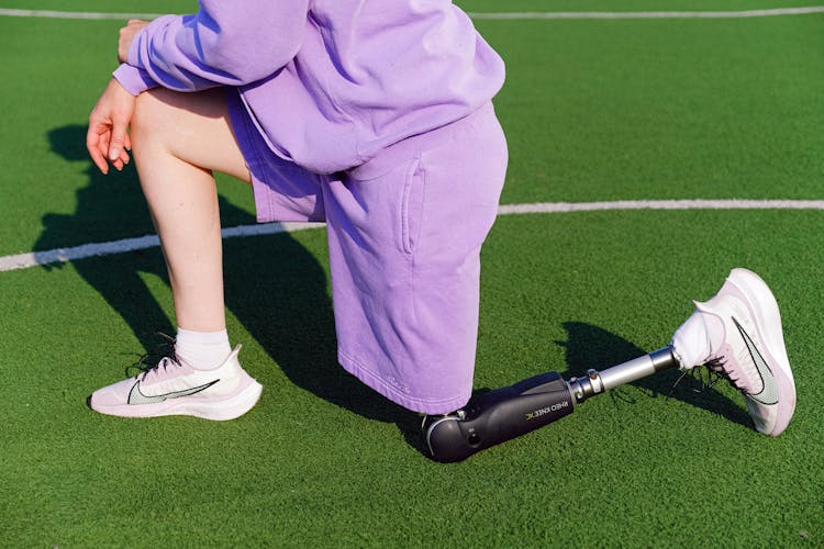
[[[243,86],[300,49],[308,0],[201,0],[193,15],[163,15],[135,36],[114,77],[132,93]]]

